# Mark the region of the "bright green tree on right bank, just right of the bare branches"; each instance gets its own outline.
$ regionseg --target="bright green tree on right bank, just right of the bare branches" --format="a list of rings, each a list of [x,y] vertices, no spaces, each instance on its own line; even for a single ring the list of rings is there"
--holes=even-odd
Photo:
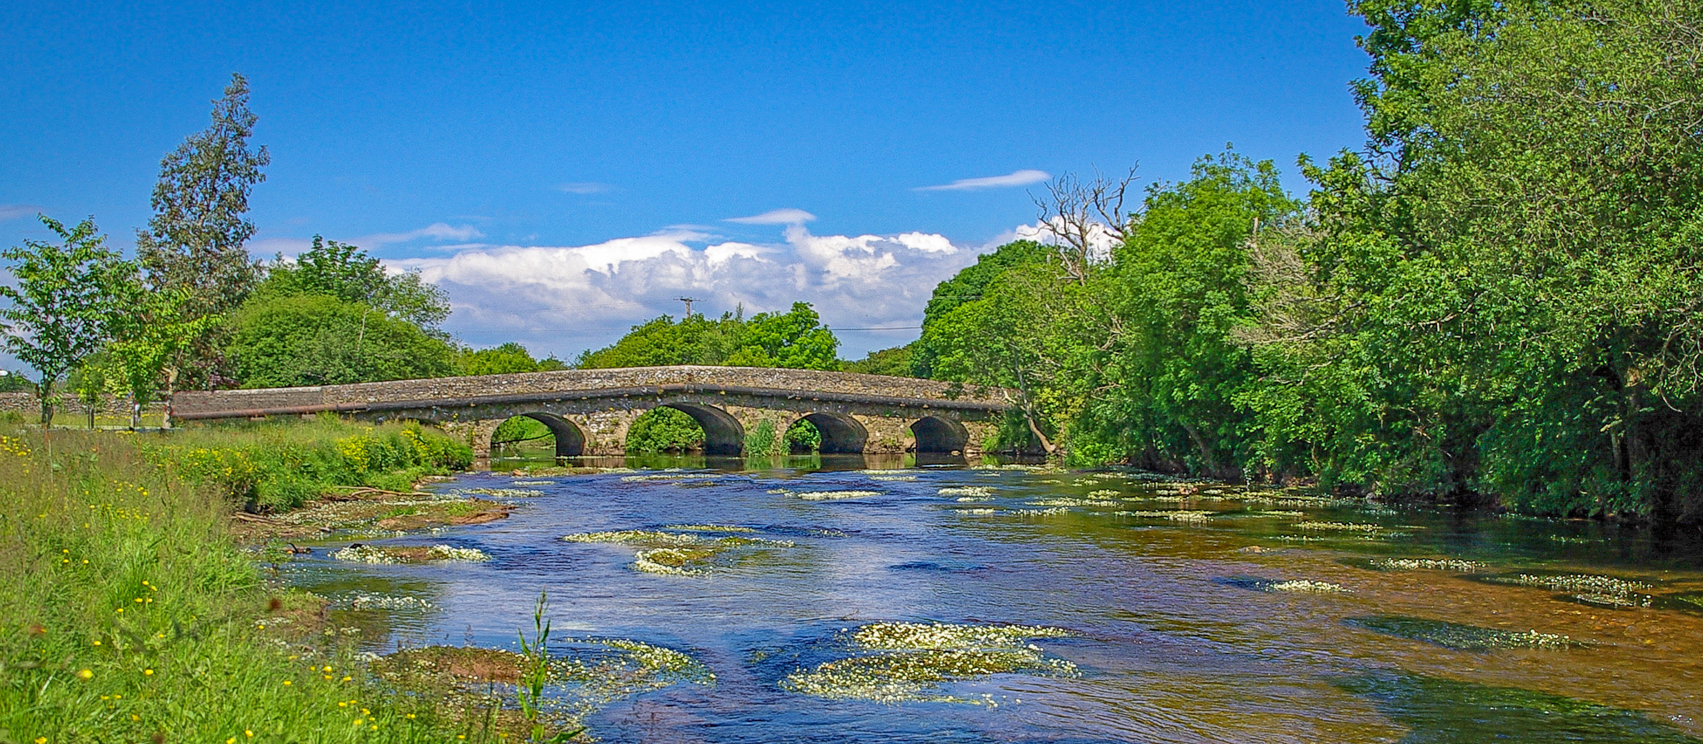
[[[1257,436],[1238,402],[1257,381],[1245,344],[1247,242],[1291,218],[1267,162],[1226,152],[1196,162],[1182,184],[1155,184],[1098,278],[1117,332],[1098,364],[1083,369],[1097,390],[1073,446],[1090,432],[1121,460],[1235,478]]]

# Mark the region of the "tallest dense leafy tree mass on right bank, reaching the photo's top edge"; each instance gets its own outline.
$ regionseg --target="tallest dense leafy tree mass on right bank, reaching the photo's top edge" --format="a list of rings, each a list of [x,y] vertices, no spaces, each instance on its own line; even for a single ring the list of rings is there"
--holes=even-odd
[[[1693,2],[1352,5],[1366,152],[1264,250],[1265,456],[1381,492],[1703,514]]]

